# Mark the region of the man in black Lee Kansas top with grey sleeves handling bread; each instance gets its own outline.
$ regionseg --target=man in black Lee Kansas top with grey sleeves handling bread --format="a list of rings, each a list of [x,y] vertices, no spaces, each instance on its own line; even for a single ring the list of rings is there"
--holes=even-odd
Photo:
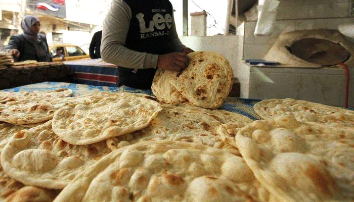
[[[191,52],[178,38],[168,0],[113,0],[101,56],[118,65],[118,86],[151,89],[156,68],[182,71]]]

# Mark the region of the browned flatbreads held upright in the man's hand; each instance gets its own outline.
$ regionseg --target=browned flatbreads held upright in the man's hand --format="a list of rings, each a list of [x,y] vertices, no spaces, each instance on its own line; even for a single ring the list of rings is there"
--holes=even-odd
[[[160,98],[216,109],[228,97],[233,72],[228,60],[214,52],[188,54],[182,72],[157,69],[151,89]]]

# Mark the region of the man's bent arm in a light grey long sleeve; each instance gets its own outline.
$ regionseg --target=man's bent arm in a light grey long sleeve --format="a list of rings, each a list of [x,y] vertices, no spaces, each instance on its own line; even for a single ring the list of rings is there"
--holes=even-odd
[[[102,30],[102,60],[132,69],[156,68],[158,55],[141,53],[126,48],[131,10],[122,0],[113,0]]]

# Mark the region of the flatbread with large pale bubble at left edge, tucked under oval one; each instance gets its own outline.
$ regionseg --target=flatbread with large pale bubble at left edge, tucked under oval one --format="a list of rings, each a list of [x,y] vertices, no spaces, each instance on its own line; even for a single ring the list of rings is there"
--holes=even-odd
[[[105,141],[71,145],[52,130],[52,121],[17,132],[4,147],[1,165],[25,185],[64,188],[78,173],[110,153]]]

